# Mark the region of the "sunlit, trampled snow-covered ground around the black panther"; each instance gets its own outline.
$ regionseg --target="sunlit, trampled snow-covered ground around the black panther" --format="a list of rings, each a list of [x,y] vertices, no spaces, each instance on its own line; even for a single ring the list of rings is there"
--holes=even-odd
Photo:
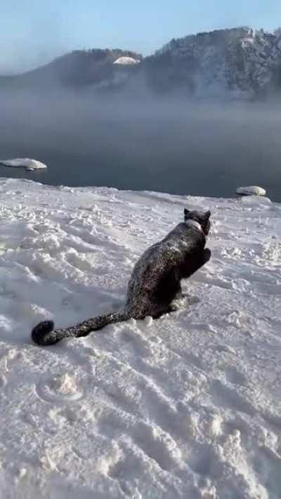
[[[281,211],[0,179],[0,497],[281,497]],[[211,209],[181,310],[41,348],[122,306],[134,262]]]

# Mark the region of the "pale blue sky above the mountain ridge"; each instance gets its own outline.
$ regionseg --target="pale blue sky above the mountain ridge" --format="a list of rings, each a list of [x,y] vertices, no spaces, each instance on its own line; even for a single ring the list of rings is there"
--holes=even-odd
[[[281,0],[0,0],[0,72],[74,48],[144,55],[171,38],[222,27],[281,25]]]

